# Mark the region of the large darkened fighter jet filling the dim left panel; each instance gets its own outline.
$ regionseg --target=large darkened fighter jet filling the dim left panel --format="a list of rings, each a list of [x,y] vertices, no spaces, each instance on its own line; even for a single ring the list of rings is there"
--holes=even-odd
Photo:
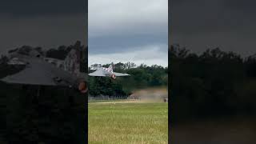
[[[67,86],[86,93],[86,74],[81,73],[80,55],[82,50],[70,50],[64,60],[46,58],[38,50],[12,50],[8,54],[13,66],[23,66],[16,74],[7,75],[0,79],[2,82],[36,85],[36,86]]]

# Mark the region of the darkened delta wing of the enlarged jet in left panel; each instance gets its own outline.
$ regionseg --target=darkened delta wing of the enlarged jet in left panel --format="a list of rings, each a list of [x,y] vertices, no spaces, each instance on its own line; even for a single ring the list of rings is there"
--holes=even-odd
[[[26,58],[27,65],[24,70],[8,75],[1,81],[42,86],[70,86],[74,85],[76,78],[68,71],[58,69],[54,65],[39,58]]]

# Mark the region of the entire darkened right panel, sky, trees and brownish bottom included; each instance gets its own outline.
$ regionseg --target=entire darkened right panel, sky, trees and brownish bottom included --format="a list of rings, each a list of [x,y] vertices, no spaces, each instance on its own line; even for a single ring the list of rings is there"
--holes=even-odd
[[[170,142],[255,142],[255,5],[169,2]]]

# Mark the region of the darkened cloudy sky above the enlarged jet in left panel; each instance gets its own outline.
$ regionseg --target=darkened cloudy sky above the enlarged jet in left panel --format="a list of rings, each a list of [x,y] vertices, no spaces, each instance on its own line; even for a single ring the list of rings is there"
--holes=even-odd
[[[0,4],[0,55],[18,46],[86,45],[85,0],[8,0]]]

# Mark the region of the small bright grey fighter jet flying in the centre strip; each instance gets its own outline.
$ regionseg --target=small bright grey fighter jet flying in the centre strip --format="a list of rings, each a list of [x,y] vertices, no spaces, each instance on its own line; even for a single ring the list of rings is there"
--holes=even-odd
[[[93,73],[88,74],[94,77],[110,77],[115,79],[116,77],[130,76],[130,74],[116,73],[113,71],[113,66],[110,65],[108,68],[102,66],[95,66],[91,70],[95,70]]]

